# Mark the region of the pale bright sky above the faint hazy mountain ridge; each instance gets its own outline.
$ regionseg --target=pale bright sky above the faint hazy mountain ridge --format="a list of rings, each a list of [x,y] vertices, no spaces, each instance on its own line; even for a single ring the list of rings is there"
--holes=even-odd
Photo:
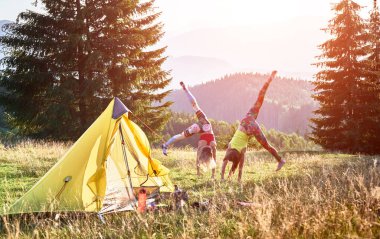
[[[0,0],[0,20],[15,20],[34,0]],[[169,33],[204,27],[250,26],[298,16],[331,16],[331,0],[156,0]],[[372,6],[372,0],[357,0]],[[367,7],[364,11],[368,12]]]

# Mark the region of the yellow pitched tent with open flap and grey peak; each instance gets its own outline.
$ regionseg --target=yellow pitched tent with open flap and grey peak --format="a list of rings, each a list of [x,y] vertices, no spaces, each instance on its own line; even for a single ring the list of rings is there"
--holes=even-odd
[[[169,170],[151,157],[144,132],[115,98],[10,214],[133,210],[136,191],[172,192]]]

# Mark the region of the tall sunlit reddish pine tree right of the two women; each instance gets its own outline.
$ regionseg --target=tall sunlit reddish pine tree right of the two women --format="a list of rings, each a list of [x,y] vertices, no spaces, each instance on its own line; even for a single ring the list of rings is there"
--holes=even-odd
[[[365,109],[362,97],[363,71],[367,37],[365,24],[358,12],[361,7],[342,0],[333,7],[335,17],[329,21],[327,33],[332,39],[320,45],[322,54],[316,65],[321,69],[314,82],[320,108],[311,119],[311,138],[325,149],[345,152],[362,151],[362,128]]]

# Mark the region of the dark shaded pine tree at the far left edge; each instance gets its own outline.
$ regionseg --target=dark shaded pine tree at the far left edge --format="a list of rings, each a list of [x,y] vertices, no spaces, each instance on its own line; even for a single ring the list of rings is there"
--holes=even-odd
[[[58,24],[47,15],[26,11],[18,16],[17,23],[5,27],[7,34],[1,38],[7,53],[2,59],[6,68],[0,81],[5,89],[1,104],[12,117],[11,126],[26,135],[71,131],[57,127],[71,119],[68,112],[72,105],[72,92],[62,94],[63,74],[57,72],[60,63],[55,61],[54,52],[64,50],[63,44],[58,44],[63,43]]]

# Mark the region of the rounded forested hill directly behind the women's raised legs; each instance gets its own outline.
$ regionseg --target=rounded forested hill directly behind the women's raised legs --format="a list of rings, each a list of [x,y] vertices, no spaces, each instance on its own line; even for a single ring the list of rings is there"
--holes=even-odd
[[[256,101],[258,91],[267,75],[236,73],[219,80],[191,87],[208,117],[227,122],[240,120]],[[267,129],[283,132],[309,132],[308,119],[317,104],[311,98],[312,84],[308,81],[276,78],[266,94],[258,122]],[[182,90],[173,91],[168,100],[174,102],[175,112],[191,113],[192,109]]]

